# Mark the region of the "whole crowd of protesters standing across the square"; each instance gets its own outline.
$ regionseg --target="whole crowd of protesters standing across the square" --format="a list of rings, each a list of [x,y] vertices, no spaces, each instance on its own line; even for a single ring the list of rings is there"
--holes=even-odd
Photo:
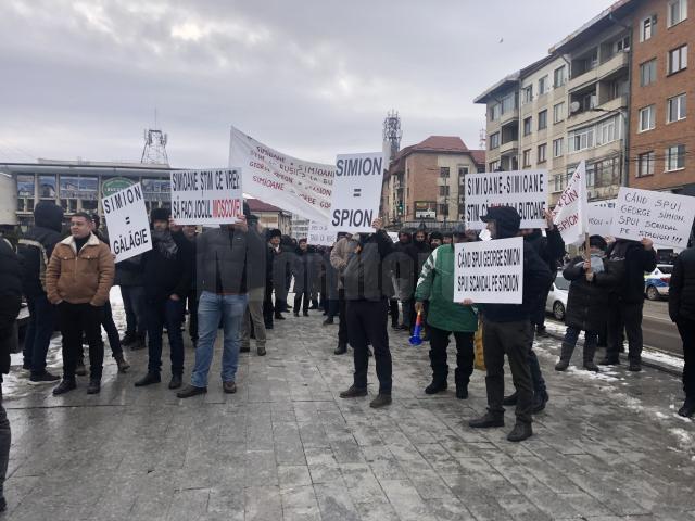
[[[516,407],[509,441],[532,435],[533,415],[549,399],[541,367],[533,352],[534,335],[546,334],[545,303],[558,268],[569,280],[566,333],[555,366],[565,371],[584,332],[583,367],[598,371],[594,357],[602,338],[606,355],[599,364],[620,363],[623,336],[628,340],[629,370],[642,369],[642,308],[644,272],[656,266],[649,240],[619,239],[610,244],[593,236],[589,252],[567,257],[561,237],[546,214],[547,227],[520,229],[520,217],[510,207],[492,207],[482,220],[488,240],[523,238],[523,298],[518,305],[454,302],[455,245],[481,240],[463,226],[428,233],[424,225],[403,229],[394,243],[376,219],[368,233],[340,233],[332,246],[314,246],[305,238],[264,230],[244,206],[235,225],[205,228],[178,226],[168,209],[151,213],[152,250],[117,265],[102,234],[98,216],[73,214],[63,229],[63,212],[40,202],[35,226],[18,241],[16,251],[0,240],[0,370],[10,369],[8,345],[14,331],[22,295],[29,310],[23,370],[30,384],[60,383],[54,395],[77,387],[86,374],[84,344],[89,346],[87,393],[100,392],[106,332],[119,372],[129,364],[123,347],[148,350],[148,365],[135,385],[159,384],[164,330],[170,357],[168,387],[179,398],[207,392],[208,372],[218,330],[223,331],[222,383],[225,393],[237,392],[240,352],[266,355],[267,335],[277,320],[293,312],[295,318],[323,313],[324,326],[336,323],[336,355],[353,351],[354,379],[342,398],[366,396],[369,358],[376,364],[379,391],[371,401],[378,408],[391,404],[392,356],[388,325],[416,333],[429,342],[431,382],[424,392],[447,389],[447,347],[456,345],[454,382],[456,397],[468,397],[473,371],[475,335],[482,330],[486,369],[488,410],[470,420],[471,428],[504,425],[504,406]],[[67,232],[65,232],[67,231]],[[123,338],[113,320],[110,290],[118,285],[126,329]],[[294,300],[288,303],[288,295]],[[188,313],[188,335],[194,348],[190,383],[184,384],[187,353],[182,326]],[[685,402],[679,414],[695,411],[695,250],[682,252],[671,277],[669,313],[683,340]],[[47,353],[53,330],[62,334],[62,378],[47,370]],[[14,328],[14,329],[13,329]],[[418,328],[419,330],[419,328]],[[509,363],[515,392],[504,394],[504,358]],[[0,406],[0,474],[2,455],[9,449],[10,429]],[[0,504],[0,507],[2,504]]]

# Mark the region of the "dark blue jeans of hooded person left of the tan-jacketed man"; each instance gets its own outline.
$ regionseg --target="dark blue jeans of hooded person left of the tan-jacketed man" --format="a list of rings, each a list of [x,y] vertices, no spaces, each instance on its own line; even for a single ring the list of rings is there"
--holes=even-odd
[[[24,366],[31,369],[33,376],[46,371],[46,354],[55,326],[55,306],[46,295],[27,296],[29,323],[24,336]]]

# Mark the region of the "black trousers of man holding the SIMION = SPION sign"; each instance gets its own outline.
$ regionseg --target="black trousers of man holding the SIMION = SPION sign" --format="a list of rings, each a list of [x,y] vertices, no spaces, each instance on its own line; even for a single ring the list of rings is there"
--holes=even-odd
[[[367,387],[367,370],[369,368],[367,344],[371,344],[380,394],[391,394],[392,367],[386,320],[387,306],[386,300],[348,301],[345,312],[350,345],[354,350],[354,385],[358,389]]]

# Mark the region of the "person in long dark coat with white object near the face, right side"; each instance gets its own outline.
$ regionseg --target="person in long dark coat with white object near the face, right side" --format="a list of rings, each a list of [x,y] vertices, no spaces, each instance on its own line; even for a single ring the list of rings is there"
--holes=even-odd
[[[601,236],[589,239],[590,259],[574,257],[569,262],[563,277],[571,281],[567,297],[565,323],[567,330],[563,340],[560,359],[556,371],[565,371],[574,352],[579,334],[584,331],[584,369],[598,371],[594,361],[598,345],[598,332],[606,327],[606,308],[609,302],[609,288],[615,285],[615,275],[606,269],[606,241]]]

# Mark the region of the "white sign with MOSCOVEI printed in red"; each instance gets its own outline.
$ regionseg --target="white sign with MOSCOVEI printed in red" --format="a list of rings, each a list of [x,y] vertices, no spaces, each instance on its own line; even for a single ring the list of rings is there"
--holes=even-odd
[[[172,171],[172,218],[177,225],[228,225],[241,215],[239,168]]]

